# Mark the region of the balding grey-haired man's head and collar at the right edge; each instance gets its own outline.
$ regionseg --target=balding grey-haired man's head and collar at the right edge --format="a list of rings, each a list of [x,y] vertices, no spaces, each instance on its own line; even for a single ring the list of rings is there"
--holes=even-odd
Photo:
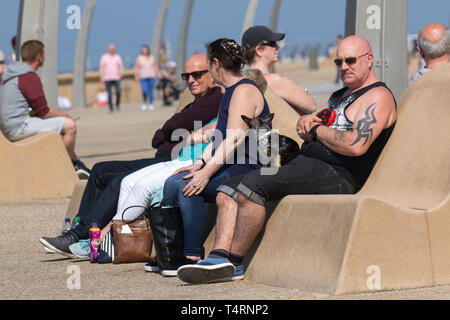
[[[425,72],[450,62],[450,32],[443,24],[427,24],[417,35],[417,44],[426,65],[416,72],[413,81]]]

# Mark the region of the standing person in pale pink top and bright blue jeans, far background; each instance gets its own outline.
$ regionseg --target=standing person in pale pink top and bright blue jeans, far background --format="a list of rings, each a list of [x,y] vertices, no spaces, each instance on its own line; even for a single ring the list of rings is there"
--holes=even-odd
[[[156,77],[159,75],[158,64],[155,57],[150,53],[147,45],[142,45],[141,54],[137,57],[134,65],[134,79],[140,81],[142,89],[142,110],[153,110],[153,88],[155,86]],[[147,97],[149,103],[147,104]]]

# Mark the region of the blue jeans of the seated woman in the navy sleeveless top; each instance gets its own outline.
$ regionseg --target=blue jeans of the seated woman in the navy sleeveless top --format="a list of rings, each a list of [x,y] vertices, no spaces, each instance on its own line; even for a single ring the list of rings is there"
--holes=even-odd
[[[164,184],[163,201],[165,205],[180,207],[181,215],[183,217],[184,229],[184,251],[185,256],[200,257],[203,247],[204,226],[206,202],[216,202],[217,187],[223,182],[227,181],[231,176],[225,171],[218,171],[211,177],[208,185],[203,192],[198,196],[185,197],[183,188],[189,183],[191,179],[183,179],[189,171],[181,172],[175,176],[171,176]]]

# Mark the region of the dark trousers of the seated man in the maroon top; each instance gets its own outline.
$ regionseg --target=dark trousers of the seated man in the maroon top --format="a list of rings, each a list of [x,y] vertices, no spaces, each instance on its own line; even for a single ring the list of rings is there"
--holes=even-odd
[[[122,179],[152,164],[170,160],[170,157],[157,152],[154,158],[95,164],[78,210],[80,224],[74,232],[80,239],[87,239],[92,222],[97,222],[99,228],[105,227],[116,214]]]

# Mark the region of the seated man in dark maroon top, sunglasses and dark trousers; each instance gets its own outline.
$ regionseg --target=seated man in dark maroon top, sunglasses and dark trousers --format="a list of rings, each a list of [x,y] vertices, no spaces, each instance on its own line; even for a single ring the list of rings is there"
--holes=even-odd
[[[194,102],[173,115],[161,129],[155,132],[152,141],[153,148],[158,149],[155,157],[97,163],[92,168],[77,214],[81,220],[80,224],[72,231],[58,237],[41,238],[40,241],[44,246],[60,254],[74,257],[69,246],[80,239],[89,238],[91,223],[97,222],[98,226],[103,228],[114,217],[117,211],[120,184],[125,176],[144,167],[170,161],[172,149],[178,144],[171,139],[176,129],[193,131],[194,121],[202,121],[206,124],[217,116],[222,92],[214,85],[208,72],[206,56],[203,54],[192,56],[186,61],[184,69],[182,78],[194,95]],[[174,155],[174,158],[176,157],[178,154]]]

